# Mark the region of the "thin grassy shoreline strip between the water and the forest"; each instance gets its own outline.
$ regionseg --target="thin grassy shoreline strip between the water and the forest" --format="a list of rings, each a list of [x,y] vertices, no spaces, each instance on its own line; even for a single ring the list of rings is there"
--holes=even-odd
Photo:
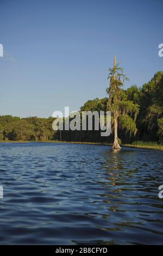
[[[102,142],[68,142],[68,141],[52,141],[52,140],[51,141],[0,141],[0,143],[30,143],[30,142],[92,144],[92,145],[112,146],[111,143],[102,143]],[[163,150],[163,145],[159,145],[159,144],[158,145],[122,144],[122,147]]]

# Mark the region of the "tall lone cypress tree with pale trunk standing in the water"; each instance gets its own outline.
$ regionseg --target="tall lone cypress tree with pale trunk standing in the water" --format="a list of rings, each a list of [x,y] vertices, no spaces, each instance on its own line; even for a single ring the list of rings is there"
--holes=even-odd
[[[116,55],[114,56],[114,67],[109,69],[108,76],[110,86],[106,89],[109,94],[108,110],[111,111],[112,132],[114,132],[113,149],[121,149],[120,139],[118,139],[118,129],[124,129],[134,135],[137,132],[136,117],[139,113],[139,105],[133,101],[127,100],[122,86],[124,81],[129,80],[123,73],[123,68],[120,68],[116,63]]]

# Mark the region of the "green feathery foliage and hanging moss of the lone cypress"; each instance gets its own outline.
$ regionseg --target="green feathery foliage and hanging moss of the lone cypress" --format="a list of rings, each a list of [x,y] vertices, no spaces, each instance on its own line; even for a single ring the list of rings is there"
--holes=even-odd
[[[124,91],[121,87],[124,81],[129,80],[123,73],[123,69],[119,65],[114,65],[114,68],[109,69],[110,86],[106,89],[109,94],[108,110],[111,111],[112,131],[115,132],[115,124],[118,124],[118,129],[126,130],[129,135],[135,136],[137,132],[136,118],[139,113],[138,104],[138,89],[132,86]],[[116,128],[117,129],[117,128]]]

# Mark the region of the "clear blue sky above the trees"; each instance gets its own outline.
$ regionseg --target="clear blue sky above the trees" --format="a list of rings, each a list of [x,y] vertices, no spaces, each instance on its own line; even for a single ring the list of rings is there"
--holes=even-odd
[[[49,117],[105,97],[114,53],[142,86],[163,57],[162,0],[0,0],[0,115]]]

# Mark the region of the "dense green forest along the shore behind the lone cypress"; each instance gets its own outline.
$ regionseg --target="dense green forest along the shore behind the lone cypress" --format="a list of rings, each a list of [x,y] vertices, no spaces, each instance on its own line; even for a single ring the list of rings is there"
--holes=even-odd
[[[142,87],[131,86],[123,90],[126,100],[139,105],[136,119],[136,134],[124,131],[126,120],[121,120],[118,133],[123,143],[136,140],[163,142],[163,72],[158,71]],[[80,111],[106,111],[108,97],[89,100]],[[11,115],[0,116],[0,139],[11,141],[48,141],[60,139],[60,132],[53,131],[54,118],[19,118]],[[131,129],[132,127],[130,127]],[[112,142],[112,135],[101,137],[100,131],[61,131],[62,141]]]

